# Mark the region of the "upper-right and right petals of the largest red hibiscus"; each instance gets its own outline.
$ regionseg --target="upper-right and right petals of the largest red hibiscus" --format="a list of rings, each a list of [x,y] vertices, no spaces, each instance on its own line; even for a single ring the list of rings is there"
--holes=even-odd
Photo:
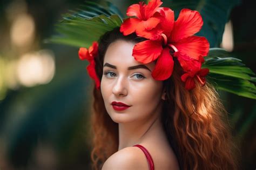
[[[169,45],[176,47],[178,51],[174,56],[188,56],[199,60],[201,56],[207,56],[210,44],[205,37],[193,36],[203,26],[203,19],[198,11],[182,9],[179,17],[168,38]]]

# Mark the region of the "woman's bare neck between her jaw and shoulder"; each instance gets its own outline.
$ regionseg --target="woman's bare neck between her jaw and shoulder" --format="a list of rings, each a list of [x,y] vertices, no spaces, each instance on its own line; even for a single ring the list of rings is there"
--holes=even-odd
[[[150,137],[156,137],[163,133],[160,120],[160,112],[150,116],[144,121],[133,121],[132,123],[119,123],[119,146],[118,151],[125,147],[140,144]]]

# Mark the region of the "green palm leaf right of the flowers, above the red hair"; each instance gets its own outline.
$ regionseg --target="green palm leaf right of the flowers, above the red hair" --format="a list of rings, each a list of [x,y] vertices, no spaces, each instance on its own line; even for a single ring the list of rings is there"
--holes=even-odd
[[[214,55],[216,55],[214,57]],[[237,94],[238,96],[256,99],[255,73],[233,57],[221,58],[227,52],[221,49],[211,49],[205,58],[203,68],[208,68],[210,73],[207,80],[217,89]]]

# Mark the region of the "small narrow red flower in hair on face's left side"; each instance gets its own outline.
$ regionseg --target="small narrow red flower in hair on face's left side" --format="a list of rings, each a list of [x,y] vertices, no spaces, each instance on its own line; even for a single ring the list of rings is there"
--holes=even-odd
[[[97,56],[98,53],[98,43],[93,42],[92,46],[89,47],[89,49],[86,49],[84,47],[80,47],[78,56],[81,60],[88,60],[89,65],[87,66],[87,72],[89,76],[95,80],[96,88],[99,89],[100,87],[100,81],[97,77],[96,71],[95,71],[95,60],[94,58]]]

